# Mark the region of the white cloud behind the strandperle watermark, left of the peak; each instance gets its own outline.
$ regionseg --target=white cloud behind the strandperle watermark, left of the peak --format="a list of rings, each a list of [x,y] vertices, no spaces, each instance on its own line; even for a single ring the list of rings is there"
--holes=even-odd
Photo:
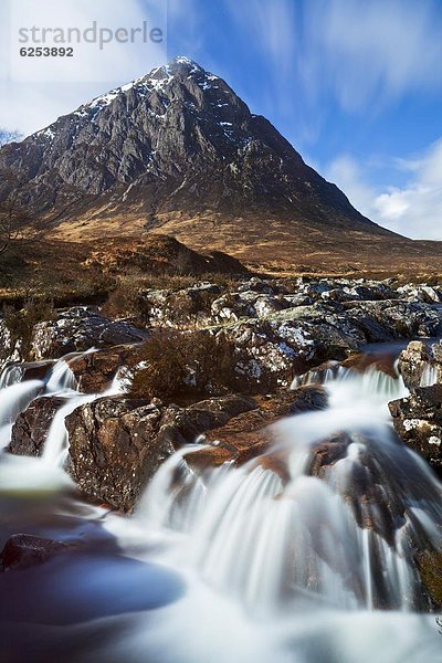
[[[165,31],[154,44],[135,33],[135,43],[73,43],[74,56],[23,57],[19,28],[97,28]],[[166,60],[166,3],[162,0],[2,0],[0,3],[0,126],[29,134],[91,97],[146,74]],[[28,43],[27,45],[38,45]],[[43,45],[43,44],[41,44]],[[55,44],[50,44],[55,45]],[[64,44],[63,44],[64,45]]]

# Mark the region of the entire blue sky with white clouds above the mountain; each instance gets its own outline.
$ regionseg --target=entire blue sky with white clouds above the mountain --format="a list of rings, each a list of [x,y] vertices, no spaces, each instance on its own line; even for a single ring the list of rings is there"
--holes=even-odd
[[[72,81],[14,81],[0,65],[0,127],[35,130],[158,59],[188,55],[224,77],[369,218],[442,239],[441,0],[10,2],[28,3],[28,13],[46,7],[48,15],[63,8],[74,24],[118,24],[123,9],[128,22],[158,23],[167,11],[167,53],[109,48],[77,61]]]

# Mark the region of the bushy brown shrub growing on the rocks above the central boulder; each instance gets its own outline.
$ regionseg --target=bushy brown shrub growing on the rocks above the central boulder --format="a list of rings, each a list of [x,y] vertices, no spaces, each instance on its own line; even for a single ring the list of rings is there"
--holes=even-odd
[[[214,394],[238,388],[235,350],[224,335],[159,329],[145,343],[140,358],[147,367],[134,379],[136,398]]]

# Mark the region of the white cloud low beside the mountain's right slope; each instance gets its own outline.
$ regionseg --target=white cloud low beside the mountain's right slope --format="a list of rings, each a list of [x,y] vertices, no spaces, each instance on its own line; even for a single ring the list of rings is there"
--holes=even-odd
[[[335,159],[326,177],[380,225],[413,239],[442,240],[442,138],[418,158],[396,164],[409,173],[402,187],[370,185],[372,173],[348,155]]]

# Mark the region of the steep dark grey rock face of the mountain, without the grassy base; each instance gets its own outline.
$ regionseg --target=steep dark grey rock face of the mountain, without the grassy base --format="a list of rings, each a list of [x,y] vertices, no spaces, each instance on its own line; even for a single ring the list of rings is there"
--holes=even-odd
[[[306,166],[222,78],[185,57],[6,145],[0,170],[20,182],[23,202],[59,218],[105,202],[114,213],[141,206],[147,228],[165,210],[285,210],[390,235]],[[0,198],[7,187],[3,181]]]

